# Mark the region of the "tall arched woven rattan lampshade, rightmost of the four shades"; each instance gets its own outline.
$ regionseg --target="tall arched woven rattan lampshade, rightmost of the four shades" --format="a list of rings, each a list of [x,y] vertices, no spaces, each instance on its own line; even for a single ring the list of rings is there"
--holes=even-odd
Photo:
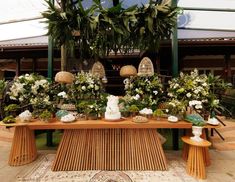
[[[153,63],[148,57],[144,57],[138,67],[138,76],[152,76],[154,74]]]

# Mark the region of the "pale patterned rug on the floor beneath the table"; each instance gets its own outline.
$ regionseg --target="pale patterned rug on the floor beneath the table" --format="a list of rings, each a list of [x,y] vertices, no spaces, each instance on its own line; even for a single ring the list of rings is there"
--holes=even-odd
[[[196,182],[188,176],[185,162],[167,155],[168,171],[68,171],[53,172],[51,165],[55,154],[44,155],[29,171],[19,174],[18,182]]]

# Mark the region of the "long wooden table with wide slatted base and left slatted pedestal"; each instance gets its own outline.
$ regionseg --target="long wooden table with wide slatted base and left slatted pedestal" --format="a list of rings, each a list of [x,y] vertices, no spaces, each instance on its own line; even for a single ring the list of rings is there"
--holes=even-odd
[[[171,123],[167,119],[150,120],[148,123],[134,123],[132,119],[119,122],[85,120],[62,123],[53,119],[49,123],[33,120],[26,125],[14,124],[14,126],[16,131],[28,132],[15,132],[9,157],[9,164],[13,166],[23,165],[36,159],[32,130],[64,129],[52,167],[54,171],[167,170],[166,157],[156,129],[189,129],[192,124],[185,121]],[[30,141],[19,144],[18,141],[26,141],[27,138]],[[21,148],[15,150],[15,145]]]

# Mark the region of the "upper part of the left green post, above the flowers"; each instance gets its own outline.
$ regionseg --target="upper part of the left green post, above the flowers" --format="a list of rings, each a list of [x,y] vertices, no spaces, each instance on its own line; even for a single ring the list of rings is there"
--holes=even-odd
[[[53,4],[54,4],[54,0],[50,0]],[[48,64],[47,64],[47,78],[49,80],[53,79],[53,52],[54,52],[54,48],[53,48],[53,39],[52,36],[49,35],[48,37]]]

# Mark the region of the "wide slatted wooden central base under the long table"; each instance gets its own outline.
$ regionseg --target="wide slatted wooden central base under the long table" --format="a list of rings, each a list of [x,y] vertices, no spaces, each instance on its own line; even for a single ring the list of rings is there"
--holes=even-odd
[[[155,129],[70,129],[52,170],[167,170],[167,163]]]

